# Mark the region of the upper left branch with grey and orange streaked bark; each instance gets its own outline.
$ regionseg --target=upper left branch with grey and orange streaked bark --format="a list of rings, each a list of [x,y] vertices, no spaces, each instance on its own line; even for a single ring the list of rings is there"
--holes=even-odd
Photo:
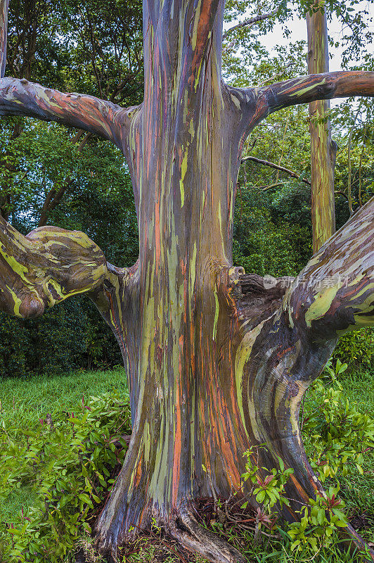
[[[0,80],[0,115],[28,115],[78,127],[122,148],[134,108],[83,94],[63,94],[27,80]]]

